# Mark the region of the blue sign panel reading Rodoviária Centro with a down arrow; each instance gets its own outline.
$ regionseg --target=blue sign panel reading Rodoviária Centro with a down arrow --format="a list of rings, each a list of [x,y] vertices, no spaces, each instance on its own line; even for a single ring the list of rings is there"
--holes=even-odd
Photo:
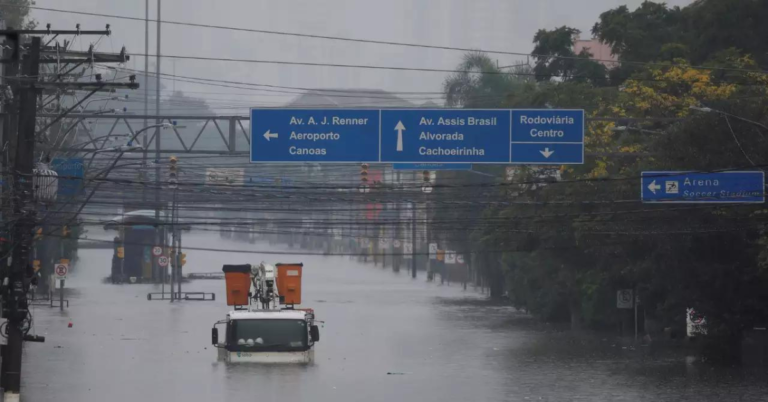
[[[583,110],[512,110],[511,163],[584,163]]]

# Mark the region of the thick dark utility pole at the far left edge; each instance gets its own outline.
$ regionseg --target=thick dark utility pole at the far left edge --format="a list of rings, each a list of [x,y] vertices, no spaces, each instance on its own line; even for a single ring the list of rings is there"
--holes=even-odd
[[[20,40],[20,38],[19,38]],[[16,217],[12,241],[15,247],[8,275],[7,292],[8,345],[4,359],[8,359],[4,374],[6,393],[18,395],[21,392],[21,352],[24,342],[22,325],[29,313],[27,284],[25,276],[29,265],[29,251],[32,245],[32,231],[35,227],[34,188],[32,174],[35,158],[35,119],[37,118],[37,88],[34,83],[40,73],[40,38],[33,37],[29,54],[24,60],[22,75],[27,82],[19,90],[19,125],[16,142],[15,168],[13,170],[13,193],[18,201],[14,203]],[[20,45],[17,42],[18,45]],[[18,55],[18,54],[17,54]]]

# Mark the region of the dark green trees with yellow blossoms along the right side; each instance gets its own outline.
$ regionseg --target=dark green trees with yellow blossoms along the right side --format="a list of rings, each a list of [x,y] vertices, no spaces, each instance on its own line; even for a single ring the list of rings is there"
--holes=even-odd
[[[494,194],[515,202],[474,215],[462,241],[504,250],[500,260],[489,252],[478,269],[503,281],[513,305],[546,320],[610,328],[619,314],[616,290],[635,288],[645,314],[664,326],[682,326],[689,307],[704,314],[709,345],[717,345],[708,350],[720,357],[738,351],[743,329],[768,323],[768,209],[644,205],[633,178],[644,170],[768,164],[768,129],[759,126],[768,126],[768,75],[759,67],[768,33],[758,23],[766,10],[761,1],[700,0],[683,9],[646,1],[635,11],[607,11],[593,33],[620,60],[653,62],[611,70],[613,86],[597,79],[604,70],[578,64],[588,55],[573,54],[578,31],[568,27],[536,33],[535,83],[515,87],[497,77],[490,59],[468,56],[463,67],[475,75],[446,85],[451,106],[479,105],[467,94],[496,93],[486,98],[495,103],[483,105],[677,119],[634,123],[642,130],[593,121],[585,138],[593,156],[561,167],[563,182],[531,184],[538,170],[520,168]],[[701,105],[725,113],[690,108]]]

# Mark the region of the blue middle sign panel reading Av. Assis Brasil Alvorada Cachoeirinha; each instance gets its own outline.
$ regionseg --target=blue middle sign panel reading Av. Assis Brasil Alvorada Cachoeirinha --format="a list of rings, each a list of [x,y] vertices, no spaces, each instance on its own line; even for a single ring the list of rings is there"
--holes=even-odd
[[[381,111],[381,162],[509,163],[509,110]]]

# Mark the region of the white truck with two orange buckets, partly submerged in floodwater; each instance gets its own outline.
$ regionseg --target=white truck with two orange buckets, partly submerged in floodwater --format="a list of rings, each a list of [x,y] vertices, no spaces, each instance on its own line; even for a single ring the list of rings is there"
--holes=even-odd
[[[320,340],[312,309],[301,304],[302,264],[225,265],[226,318],[211,342],[230,363],[311,363]],[[225,336],[219,337],[219,327]]]

